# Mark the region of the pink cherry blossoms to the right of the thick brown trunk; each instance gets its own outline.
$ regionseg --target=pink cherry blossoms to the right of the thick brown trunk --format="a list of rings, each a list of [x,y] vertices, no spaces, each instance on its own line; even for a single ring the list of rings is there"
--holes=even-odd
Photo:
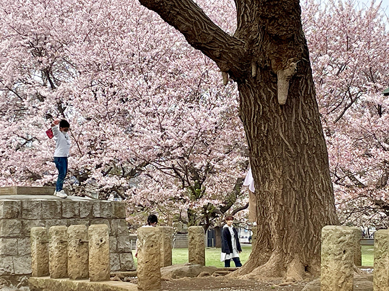
[[[341,223],[388,227],[389,32],[380,5],[303,3]],[[332,21],[331,19],[336,19]]]

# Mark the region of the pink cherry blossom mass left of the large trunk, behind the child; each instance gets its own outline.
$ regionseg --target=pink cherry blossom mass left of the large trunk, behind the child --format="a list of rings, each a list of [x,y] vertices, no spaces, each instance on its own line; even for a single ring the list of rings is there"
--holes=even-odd
[[[2,7],[2,185],[53,185],[44,131],[65,117],[72,193],[115,194],[134,214],[205,228],[245,208],[236,88],[222,86],[216,66],[174,29],[136,1]]]

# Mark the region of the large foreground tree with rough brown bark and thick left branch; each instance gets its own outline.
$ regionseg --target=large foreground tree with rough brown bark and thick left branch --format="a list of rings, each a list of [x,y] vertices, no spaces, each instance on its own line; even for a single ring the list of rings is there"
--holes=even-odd
[[[238,84],[258,235],[248,262],[234,273],[318,275],[321,227],[338,221],[299,1],[235,0],[233,36],[192,0],[140,2],[211,58],[225,83]]]

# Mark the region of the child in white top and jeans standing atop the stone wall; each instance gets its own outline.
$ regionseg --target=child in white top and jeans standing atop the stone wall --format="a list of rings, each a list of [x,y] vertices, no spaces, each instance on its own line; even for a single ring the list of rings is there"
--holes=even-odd
[[[57,128],[58,124],[59,129]],[[54,163],[58,169],[58,179],[55,185],[54,196],[66,198],[68,195],[63,190],[63,185],[68,172],[68,156],[70,149],[68,131],[70,124],[66,120],[55,120],[51,126],[55,140]]]

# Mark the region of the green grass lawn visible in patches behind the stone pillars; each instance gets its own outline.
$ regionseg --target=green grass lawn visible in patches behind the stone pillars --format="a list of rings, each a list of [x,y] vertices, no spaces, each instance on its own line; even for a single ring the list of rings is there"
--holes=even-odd
[[[215,267],[224,267],[224,262],[220,261],[220,248],[207,247],[205,248],[205,264],[207,266]],[[372,266],[373,265],[373,251],[374,247],[372,245],[363,245],[362,246],[362,265],[363,266]],[[240,260],[244,264],[251,253],[251,245],[242,244],[242,253],[240,254]],[[137,265],[138,260],[135,258],[135,250],[132,251],[134,255],[135,265]],[[172,260],[173,265],[183,264],[188,262],[188,249],[173,249],[172,250]],[[231,261],[231,267],[235,267],[234,263]]]

